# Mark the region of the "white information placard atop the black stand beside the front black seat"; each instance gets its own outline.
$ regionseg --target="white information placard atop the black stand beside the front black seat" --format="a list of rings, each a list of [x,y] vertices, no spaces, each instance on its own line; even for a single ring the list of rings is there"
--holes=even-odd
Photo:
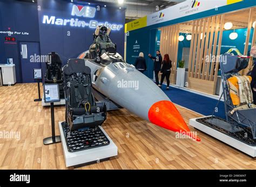
[[[44,84],[44,102],[60,102],[58,84]]]

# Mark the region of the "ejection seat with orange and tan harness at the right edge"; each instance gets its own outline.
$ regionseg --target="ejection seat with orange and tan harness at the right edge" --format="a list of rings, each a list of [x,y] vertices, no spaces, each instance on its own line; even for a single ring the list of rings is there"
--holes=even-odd
[[[253,104],[250,76],[241,76],[239,71],[247,68],[249,57],[224,54],[220,69],[224,90],[226,120],[234,127],[250,127],[256,139],[256,105]]]

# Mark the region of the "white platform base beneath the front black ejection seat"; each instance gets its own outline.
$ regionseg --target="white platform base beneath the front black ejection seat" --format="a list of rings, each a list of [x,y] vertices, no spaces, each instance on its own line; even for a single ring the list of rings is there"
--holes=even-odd
[[[59,122],[60,139],[62,140],[62,148],[65,157],[66,167],[82,165],[94,161],[104,160],[112,156],[117,156],[117,146],[110,139],[109,135],[100,126],[102,132],[109,139],[110,144],[103,147],[91,148],[87,150],[81,150],[79,152],[71,153],[66,146],[66,140],[64,132],[62,130],[62,122]]]

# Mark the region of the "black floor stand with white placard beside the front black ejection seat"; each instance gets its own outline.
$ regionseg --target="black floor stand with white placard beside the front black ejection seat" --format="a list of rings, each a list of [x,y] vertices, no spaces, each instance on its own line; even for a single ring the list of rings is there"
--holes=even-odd
[[[44,102],[50,103],[51,106],[51,133],[52,135],[43,140],[44,145],[61,142],[60,136],[55,135],[55,119],[54,119],[54,102],[59,102],[59,85],[44,84]]]

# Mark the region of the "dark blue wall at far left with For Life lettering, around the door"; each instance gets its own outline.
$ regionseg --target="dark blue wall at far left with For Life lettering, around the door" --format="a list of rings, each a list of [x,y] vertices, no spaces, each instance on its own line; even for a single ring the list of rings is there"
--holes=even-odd
[[[39,41],[37,4],[26,2],[0,1],[0,31],[27,32],[26,34],[13,34],[16,42],[5,42],[8,34],[0,33],[0,63],[6,63],[12,58],[16,67],[16,79],[22,82],[21,63],[19,62],[19,41]],[[30,72],[29,72],[30,73]],[[32,73],[32,72],[31,72]]]

